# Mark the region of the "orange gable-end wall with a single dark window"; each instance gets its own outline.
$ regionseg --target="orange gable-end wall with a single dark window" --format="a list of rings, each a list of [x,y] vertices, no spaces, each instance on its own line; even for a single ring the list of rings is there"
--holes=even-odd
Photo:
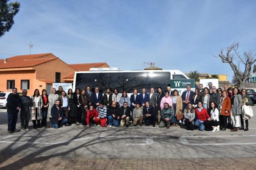
[[[33,67],[36,70],[36,79],[49,80],[55,82],[55,72],[60,72],[60,82],[64,82],[63,78],[76,70],[63,62],[56,59],[44,64]]]

